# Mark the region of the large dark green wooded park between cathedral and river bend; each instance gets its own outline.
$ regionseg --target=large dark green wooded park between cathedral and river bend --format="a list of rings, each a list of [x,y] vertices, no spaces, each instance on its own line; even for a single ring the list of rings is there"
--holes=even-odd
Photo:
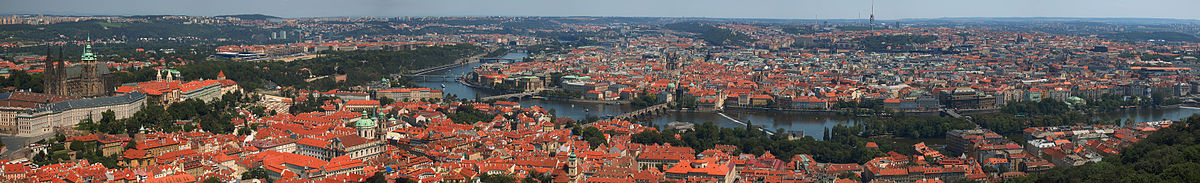
[[[184,79],[216,78],[218,72],[224,71],[226,77],[238,81],[239,85],[250,89],[275,84],[329,90],[379,81],[379,78],[389,77],[390,73],[451,64],[460,58],[482,52],[484,49],[476,46],[454,45],[421,47],[413,51],[325,52],[314,59],[290,63],[209,60],[178,69],[182,72]],[[346,75],[344,82],[334,81],[332,76],[340,75]],[[305,81],[322,76],[326,77],[312,82]]]

